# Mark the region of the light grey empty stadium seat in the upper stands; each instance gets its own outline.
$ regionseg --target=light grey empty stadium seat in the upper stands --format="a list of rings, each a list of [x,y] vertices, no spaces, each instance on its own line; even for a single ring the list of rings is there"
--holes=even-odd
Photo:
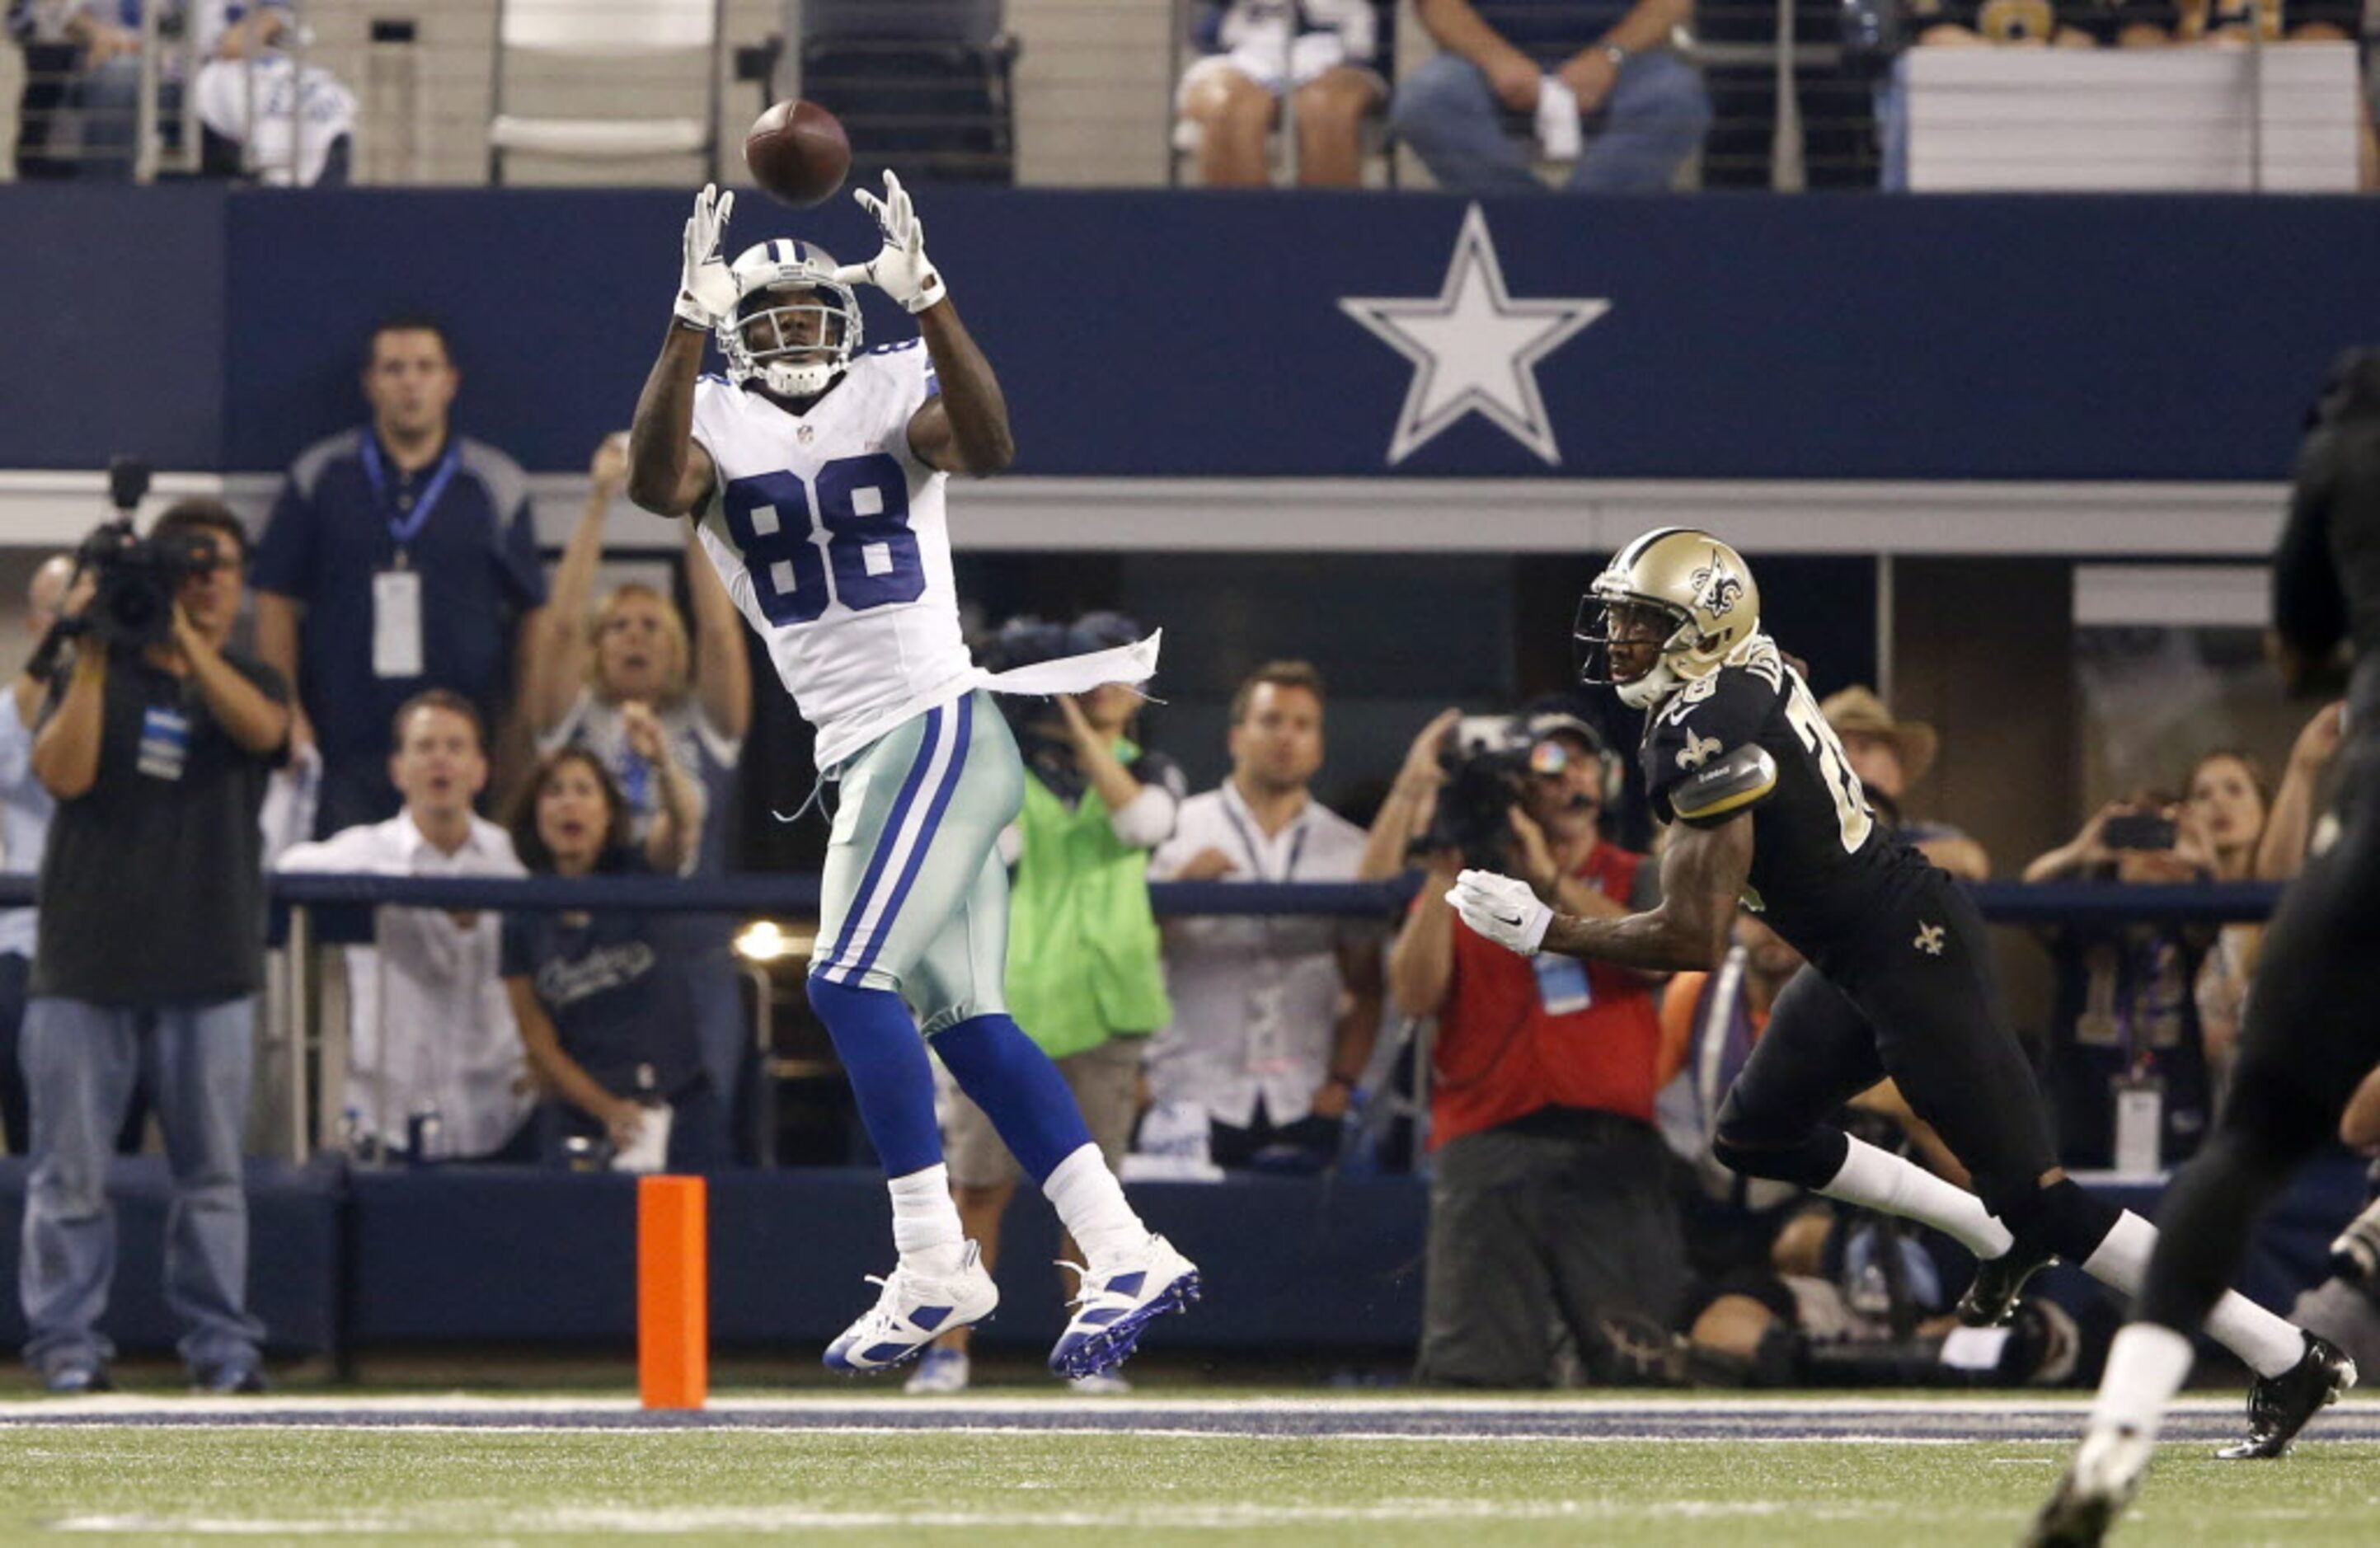
[[[719,176],[719,78],[724,0],[500,0],[488,109],[488,181],[505,181],[505,157],[531,152],[612,162],[695,155]],[[700,52],[700,117],[566,119],[505,112],[516,55],[543,59],[633,59]]]

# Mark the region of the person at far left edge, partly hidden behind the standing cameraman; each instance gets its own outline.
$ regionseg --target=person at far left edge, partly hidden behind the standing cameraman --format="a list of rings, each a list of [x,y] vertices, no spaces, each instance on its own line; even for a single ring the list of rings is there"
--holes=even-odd
[[[10,875],[38,875],[40,849],[50,837],[50,792],[33,778],[33,725],[57,668],[50,630],[57,609],[74,583],[74,559],[52,554],[33,571],[24,592],[24,628],[33,637],[33,659],[0,692],[0,868]],[[0,1129],[7,1153],[24,1156],[33,1132],[24,1108],[24,1065],[17,1063],[17,1032],[24,1027],[24,992],[33,975],[31,908],[0,908]]]

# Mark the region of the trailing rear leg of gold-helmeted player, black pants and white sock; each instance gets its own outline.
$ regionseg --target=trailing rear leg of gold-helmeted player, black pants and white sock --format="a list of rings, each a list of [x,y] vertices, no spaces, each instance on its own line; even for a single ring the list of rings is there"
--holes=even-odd
[[[2016,1236],[2013,1251],[1978,1253],[2004,1263],[1978,1272],[1961,1313],[2006,1315],[2023,1279],[2049,1258],[2121,1294],[2137,1291],[2156,1227],[2094,1198],[2059,1168],[2049,1113],[2009,1030],[1973,899],[1949,877],[1935,877],[1883,939],[1902,937],[1906,949],[1861,975],[1859,1003],[1909,1108],[1942,1134],[1985,1208]],[[2266,1377],[2304,1355],[2299,1332],[2244,1296],[2223,1296],[2206,1332]]]

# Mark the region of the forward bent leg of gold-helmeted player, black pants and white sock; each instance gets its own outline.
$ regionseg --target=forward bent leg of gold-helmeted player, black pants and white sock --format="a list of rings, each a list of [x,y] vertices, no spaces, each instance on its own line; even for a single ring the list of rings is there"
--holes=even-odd
[[[1768,1027],[1718,1113],[1714,1153],[1747,1177],[1923,1220],[1978,1258],[2009,1251],[2009,1232],[1966,1189],[1852,1139],[1828,1120],[1885,1077],[1875,1027],[1852,999],[1802,968],[1778,994]]]

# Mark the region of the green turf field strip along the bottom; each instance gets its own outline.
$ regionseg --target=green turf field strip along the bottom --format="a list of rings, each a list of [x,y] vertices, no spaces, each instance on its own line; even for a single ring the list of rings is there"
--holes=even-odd
[[[2013,1543],[2061,1446],[1150,1434],[0,1431],[0,1538]],[[2380,1543],[2380,1446],[2171,1446],[2118,1541]],[[1128,1538],[1119,1538],[1128,1531]]]

